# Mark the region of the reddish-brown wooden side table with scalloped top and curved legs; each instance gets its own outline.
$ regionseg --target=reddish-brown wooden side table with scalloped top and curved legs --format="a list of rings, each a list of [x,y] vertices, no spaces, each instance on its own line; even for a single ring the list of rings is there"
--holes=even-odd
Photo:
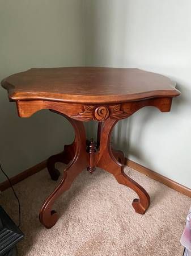
[[[144,214],[150,197],[144,188],[124,173],[125,157],[111,146],[114,125],[145,106],[169,112],[172,98],[179,96],[173,82],[165,76],[125,68],[32,68],[7,77],[1,82],[16,101],[19,117],[30,117],[49,109],[67,118],[75,130],[74,142],[63,152],[50,156],[48,171],[53,180],[60,175],[54,164],[67,164],[58,187],[40,210],[40,221],[46,228],[56,224],[54,201],[70,188],[77,175],[87,168],[91,174],[99,167],[114,175],[118,183],[133,189],[139,199],[133,200],[135,212]],[[83,122],[99,122],[97,142],[87,141]]]

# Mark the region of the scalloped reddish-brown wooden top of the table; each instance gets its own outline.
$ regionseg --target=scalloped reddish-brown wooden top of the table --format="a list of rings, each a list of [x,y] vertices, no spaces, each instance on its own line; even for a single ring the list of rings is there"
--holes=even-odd
[[[31,68],[7,77],[1,84],[11,101],[110,104],[180,94],[168,77],[135,68]]]

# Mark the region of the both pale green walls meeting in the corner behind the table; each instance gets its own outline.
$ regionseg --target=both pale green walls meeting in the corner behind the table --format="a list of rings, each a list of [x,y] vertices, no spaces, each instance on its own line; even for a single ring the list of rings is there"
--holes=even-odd
[[[139,110],[113,141],[132,160],[191,187],[190,0],[0,0],[0,79],[31,67],[137,67],[177,82],[172,112]],[[0,159],[10,176],[73,139],[56,114],[18,118],[0,89]],[[94,124],[93,124],[94,123]],[[89,123],[88,137],[95,135]],[[2,176],[0,176],[2,180]]]

